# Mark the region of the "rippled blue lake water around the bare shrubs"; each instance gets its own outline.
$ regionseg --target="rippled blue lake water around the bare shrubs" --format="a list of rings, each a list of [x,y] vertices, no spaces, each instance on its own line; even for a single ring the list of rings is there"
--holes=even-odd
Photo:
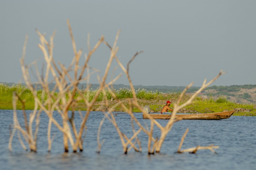
[[[29,111],[27,111],[29,113]],[[84,112],[83,112],[84,114]],[[56,112],[55,118],[61,122]],[[141,113],[134,114],[143,124],[150,125],[150,120],[142,119]],[[18,111],[19,121],[24,121],[23,114]],[[97,154],[97,131],[103,118],[102,112],[91,112],[87,131],[84,138],[84,151],[78,153],[64,153],[62,133],[52,125],[55,138],[51,153],[47,152],[47,116],[41,115],[38,134],[38,152],[23,150],[19,144],[17,134],[13,139],[13,152],[8,150],[10,124],[13,124],[13,111],[0,110],[0,169],[256,169],[256,117],[231,116],[223,120],[182,120],[176,122],[163,143],[161,153],[147,154],[147,136],[141,132],[138,136],[142,143],[142,152],[130,150],[124,154],[119,136],[109,120],[102,126],[100,138],[105,139],[101,153]],[[128,114],[118,114],[115,119],[127,136],[133,132]],[[81,121],[77,113],[75,122]],[[158,120],[165,125],[168,120]],[[135,126],[138,129],[137,126]],[[182,149],[214,144],[217,154],[210,150],[199,150],[196,154],[175,153],[179,147],[181,137],[186,129],[188,134]],[[160,130],[154,126],[154,137],[160,136]],[[28,146],[27,146],[28,147]]]

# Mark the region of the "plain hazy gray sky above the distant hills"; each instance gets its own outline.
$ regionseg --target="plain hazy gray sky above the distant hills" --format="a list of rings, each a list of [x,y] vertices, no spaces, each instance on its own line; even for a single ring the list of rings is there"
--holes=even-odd
[[[54,58],[68,66],[73,58],[69,19],[83,54],[88,52],[88,33],[91,47],[101,35],[113,45],[119,29],[117,55],[125,66],[137,51],[144,51],[130,65],[134,85],[201,86],[221,69],[227,73],[213,85],[256,84],[255,9],[255,0],[1,0],[0,82],[21,80],[26,34],[25,62],[39,58],[42,64],[35,28],[47,39],[57,31]],[[89,66],[102,76],[109,56],[102,44]],[[83,61],[84,55],[81,65]],[[96,76],[90,83],[98,83]],[[115,84],[128,82],[123,75]]]

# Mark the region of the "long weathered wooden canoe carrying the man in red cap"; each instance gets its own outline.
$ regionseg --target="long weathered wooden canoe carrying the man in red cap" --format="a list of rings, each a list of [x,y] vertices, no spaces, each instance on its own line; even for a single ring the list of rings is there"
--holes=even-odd
[[[201,113],[201,114],[176,114],[175,118],[196,119],[196,120],[219,120],[228,119],[236,110],[218,113]],[[171,114],[149,114],[154,119],[170,119]],[[143,114],[143,119],[149,119],[148,115]]]

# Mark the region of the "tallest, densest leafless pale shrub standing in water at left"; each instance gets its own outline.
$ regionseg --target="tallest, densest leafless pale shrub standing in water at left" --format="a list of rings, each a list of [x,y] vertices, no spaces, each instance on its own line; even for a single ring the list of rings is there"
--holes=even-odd
[[[45,36],[41,34],[38,30],[37,33],[40,37],[41,44],[39,44],[39,48],[43,52],[44,55],[44,60],[46,62],[46,70],[45,70],[45,76],[43,73],[40,75],[37,65],[35,65],[35,72],[37,73],[38,77],[38,82],[43,88],[42,96],[45,96],[45,100],[43,97],[43,100],[40,99],[40,97],[37,96],[37,89],[32,86],[32,82],[30,80],[30,74],[29,74],[29,67],[25,65],[24,60],[25,60],[25,51],[26,51],[26,43],[27,39],[25,41],[24,45],[24,52],[23,52],[23,57],[20,60],[21,67],[22,67],[22,72],[23,72],[23,78],[24,81],[27,85],[27,87],[31,90],[35,104],[42,109],[47,116],[49,117],[49,123],[48,123],[48,151],[51,150],[51,143],[52,143],[52,137],[51,137],[51,125],[54,123],[57,128],[63,133],[63,145],[65,152],[69,151],[68,148],[68,143],[70,143],[73,152],[77,151],[77,147],[79,147],[80,151],[83,150],[83,145],[82,145],[82,135],[85,129],[85,124],[88,119],[88,116],[90,114],[91,108],[93,104],[96,102],[96,99],[98,98],[100,92],[102,89],[108,87],[111,83],[113,83],[116,79],[113,81],[106,83],[106,77],[108,75],[108,71],[110,68],[110,65],[112,63],[112,58],[113,56],[110,57],[110,61],[106,67],[105,74],[100,81],[100,88],[96,92],[96,95],[94,96],[93,100],[89,102],[86,97],[84,97],[83,92],[80,89],[77,88],[77,85],[82,82],[86,81],[89,79],[91,73],[88,73],[87,75],[84,75],[84,72],[86,69],[88,69],[88,61],[91,57],[91,55],[96,51],[96,49],[99,47],[99,45],[103,42],[104,37],[102,36],[98,43],[94,46],[93,49],[91,49],[86,57],[86,61],[84,62],[84,65],[82,67],[79,67],[78,63],[82,54],[82,50],[77,51],[76,50],[76,45],[74,41],[74,37],[72,34],[72,30],[70,27],[70,23],[68,22],[68,27],[70,31],[70,36],[72,40],[72,46],[74,50],[74,58],[72,63],[70,64],[69,68],[65,68],[61,63],[59,63],[59,67],[57,67],[54,58],[53,58],[53,39],[54,35],[50,37],[50,41],[48,42],[45,39]],[[114,52],[115,53],[115,52]],[[74,78],[72,79],[70,72],[74,72]],[[80,73],[79,73],[80,72]],[[49,81],[49,75],[52,75],[53,79],[52,81]],[[68,84],[68,81],[70,84]],[[55,82],[56,85],[52,91],[49,90],[49,82]],[[90,86],[87,86],[85,90],[88,90]],[[70,90],[72,88],[72,90]],[[55,92],[58,90],[57,95],[55,96]],[[80,96],[78,98],[75,98],[75,94],[78,93]],[[66,94],[68,94],[68,99],[66,98]],[[80,128],[77,130],[76,126],[74,124],[74,106],[76,105],[78,100],[84,99],[86,106],[87,106],[87,112],[85,116],[82,118],[82,123]],[[72,110],[72,116],[69,118],[68,117],[68,111],[69,109]],[[37,110],[37,108],[35,108]],[[54,110],[57,110],[58,113],[62,117],[62,126],[57,122],[54,117],[53,117],[53,112]],[[16,128],[16,124],[14,126]],[[74,136],[72,135],[74,134]],[[11,140],[10,140],[11,143]],[[11,144],[10,144],[11,145]]]

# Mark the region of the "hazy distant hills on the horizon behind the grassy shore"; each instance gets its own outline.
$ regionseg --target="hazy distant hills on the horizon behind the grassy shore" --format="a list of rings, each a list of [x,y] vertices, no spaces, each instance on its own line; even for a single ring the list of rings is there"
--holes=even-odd
[[[2,83],[9,86],[15,85],[15,83]],[[26,86],[26,84],[22,84]],[[54,88],[55,84],[49,84],[50,89]],[[41,88],[40,85],[34,85],[38,89]],[[78,86],[80,89],[86,88],[86,84],[79,84]],[[158,91],[163,93],[179,93],[184,90],[186,86],[143,86],[143,85],[134,85],[136,90],[138,89],[145,89],[148,91]],[[90,89],[96,90],[99,88],[99,84],[91,84]],[[129,85],[124,84],[114,84],[113,88],[118,90],[120,88],[130,88]],[[191,87],[187,90],[188,94],[194,93],[200,87]],[[256,104],[256,85],[231,85],[231,86],[210,86],[205,88],[204,91],[199,95],[202,98],[213,98],[218,99],[219,97],[226,98],[229,101],[236,102],[236,103],[251,103]]]

